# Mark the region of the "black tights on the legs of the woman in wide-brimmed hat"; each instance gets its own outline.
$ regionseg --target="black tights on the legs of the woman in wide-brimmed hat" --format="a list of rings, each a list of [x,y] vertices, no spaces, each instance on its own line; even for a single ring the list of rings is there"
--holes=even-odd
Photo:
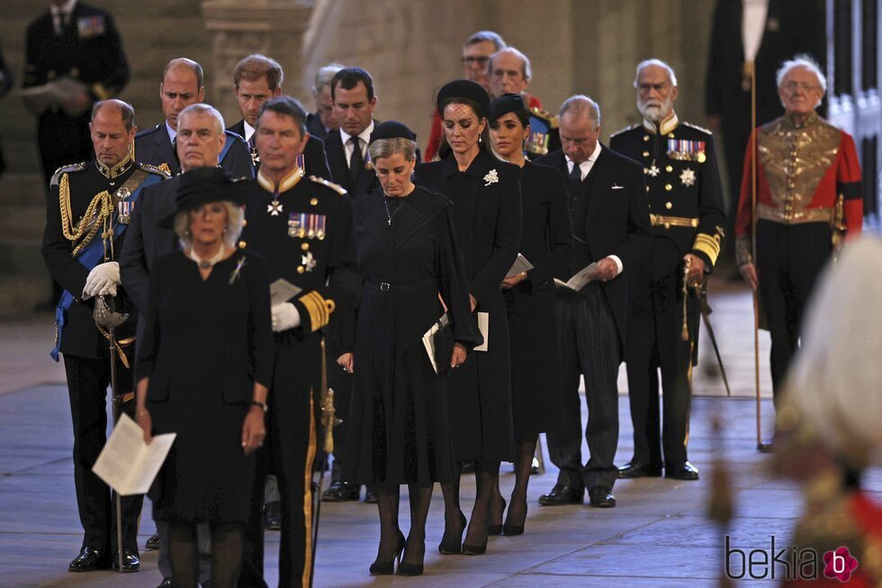
[[[236,588],[242,565],[242,531],[238,522],[211,521],[211,586]],[[199,581],[196,523],[169,523],[168,558],[175,588],[195,588]]]

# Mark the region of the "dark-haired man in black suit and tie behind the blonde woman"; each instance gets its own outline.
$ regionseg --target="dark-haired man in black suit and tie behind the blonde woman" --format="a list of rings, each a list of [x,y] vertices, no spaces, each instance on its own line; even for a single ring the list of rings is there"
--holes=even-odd
[[[331,80],[331,99],[340,123],[339,130],[325,140],[331,177],[357,198],[380,185],[367,155],[376,124],[374,78],[362,68],[343,68]]]

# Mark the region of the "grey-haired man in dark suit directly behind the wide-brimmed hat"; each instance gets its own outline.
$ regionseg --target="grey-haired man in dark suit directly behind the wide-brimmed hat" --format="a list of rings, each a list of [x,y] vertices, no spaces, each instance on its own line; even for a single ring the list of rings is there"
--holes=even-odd
[[[223,132],[223,117],[208,104],[191,104],[175,113],[178,132],[177,158],[182,173],[196,167],[217,167],[220,152],[229,135]],[[147,313],[150,270],[157,258],[178,247],[175,231],[159,226],[159,221],[175,212],[175,193],[180,181],[177,175],[166,182],[148,186],[144,197],[131,215],[128,235],[120,254],[122,284],[135,303],[139,315]],[[146,321],[139,321],[136,341],[143,335]],[[137,345],[137,343],[136,343]],[[207,556],[207,534],[200,532],[200,581],[211,578],[211,559]],[[157,525],[157,533],[148,541],[150,548],[159,548],[158,567],[163,575],[162,586],[171,586],[171,565],[168,560],[166,525]],[[152,541],[152,547],[151,546]]]

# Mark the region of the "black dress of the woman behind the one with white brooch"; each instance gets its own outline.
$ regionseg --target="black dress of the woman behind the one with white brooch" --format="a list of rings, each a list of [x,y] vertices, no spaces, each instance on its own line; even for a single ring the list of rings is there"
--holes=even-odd
[[[521,169],[520,253],[533,269],[503,290],[511,337],[511,406],[515,439],[554,430],[561,411],[561,353],[554,276],[566,274],[572,224],[563,174],[527,161]]]

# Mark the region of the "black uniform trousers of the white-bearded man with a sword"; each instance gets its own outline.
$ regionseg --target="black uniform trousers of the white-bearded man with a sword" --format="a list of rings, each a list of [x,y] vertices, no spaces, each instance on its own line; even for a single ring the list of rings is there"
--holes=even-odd
[[[689,340],[684,341],[682,266],[667,276],[653,278],[651,257],[647,256],[644,270],[632,276],[635,293],[628,314],[625,351],[634,425],[631,464],[635,466],[662,466],[662,451],[665,464],[689,458],[689,380],[698,335],[698,303],[692,295],[687,298]],[[661,419],[660,369],[664,391]]]

